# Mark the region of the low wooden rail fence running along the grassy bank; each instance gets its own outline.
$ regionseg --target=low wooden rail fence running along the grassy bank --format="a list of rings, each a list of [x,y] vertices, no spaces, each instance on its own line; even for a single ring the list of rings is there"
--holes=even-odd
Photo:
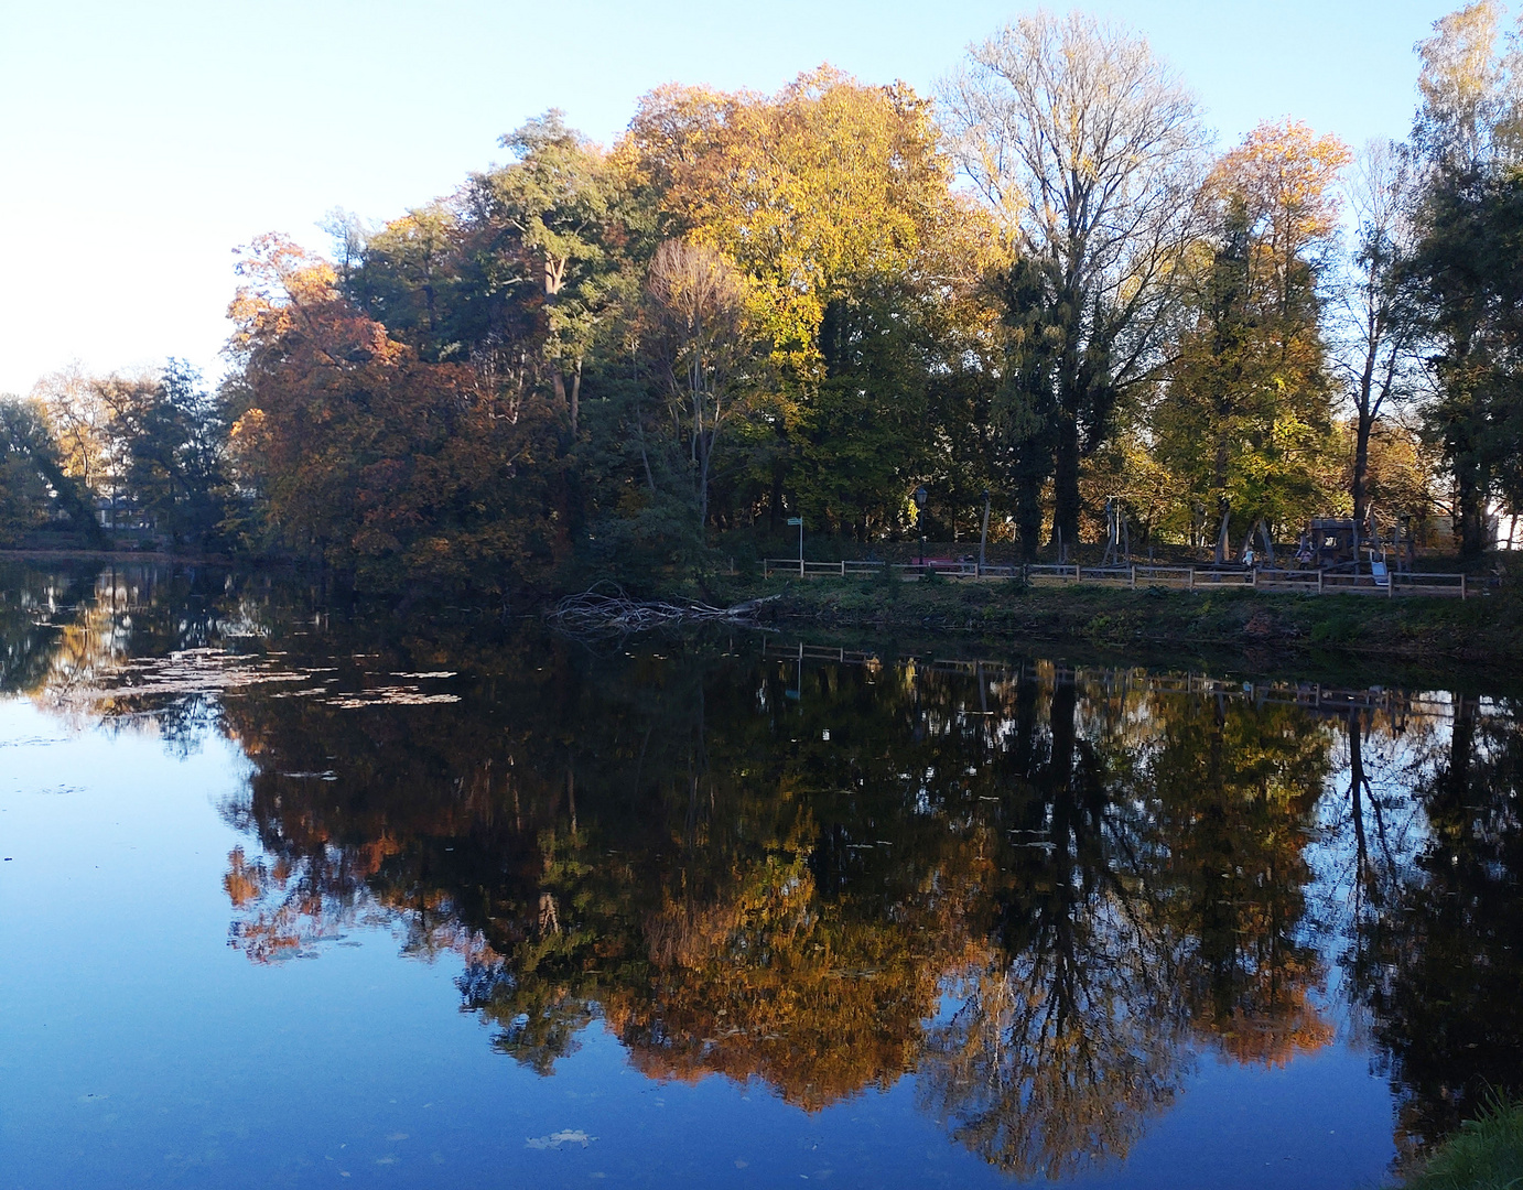
[[[768,558],[762,562],[762,573],[798,574],[804,579],[848,577],[870,574],[892,574],[905,581],[923,579],[929,574],[944,574],[953,579],[1020,579],[1030,584],[1077,582],[1100,587],[1170,587],[1180,591],[1214,591],[1229,587],[1241,587],[1255,591],[1299,593],[1299,594],[1424,594],[1424,596],[1458,596],[1465,599],[1470,585],[1464,574],[1390,574],[1390,573],[1343,573],[1330,570],[1275,570],[1269,567],[1167,567],[1167,565],[1124,565],[1124,567],[1086,567],[1078,564],[1055,565],[984,565],[978,562],[953,561],[949,558],[928,558],[924,562],[860,562],[842,559],[839,562],[807,562],[800,558]]]

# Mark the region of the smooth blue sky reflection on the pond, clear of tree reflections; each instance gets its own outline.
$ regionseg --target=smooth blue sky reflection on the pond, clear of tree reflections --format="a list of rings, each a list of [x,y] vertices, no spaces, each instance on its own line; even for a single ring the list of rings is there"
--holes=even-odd
[[[180,757],[9,701],[0,757],[15,1184],[1007,1184],[917,1108],[914,1079],[807,1114],[755,1082],[649,1080],[595,1025],[541,1079],[457,1010],[452,955],[399,961],[390,931],[361,928],[317,961],[247,961],[221,890],[248,838],[218,806],[248,766],[216,734]],[[1346,1187],[1380,1176],[1390,1128],[1357,1047],[1269,1070],[1206,1056],[1130,1160],[1080,1182]]]

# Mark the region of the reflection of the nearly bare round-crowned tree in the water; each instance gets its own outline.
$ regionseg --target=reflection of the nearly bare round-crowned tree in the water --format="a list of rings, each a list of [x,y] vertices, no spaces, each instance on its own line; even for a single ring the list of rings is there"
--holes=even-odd
[[[1135,741],[1080,739],[1077,687],[1017,684],[995,943],[931,1033],[926,1105],[1022,1176],[1122,1156],[1188,1065],[1174,957],[1145,882],[1150,829],[1115,798]],[[1046,702],[1046,730],[1039,707]]]

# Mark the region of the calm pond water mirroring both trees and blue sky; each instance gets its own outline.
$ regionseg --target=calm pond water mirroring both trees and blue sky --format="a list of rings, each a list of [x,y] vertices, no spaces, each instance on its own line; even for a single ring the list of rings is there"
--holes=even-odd
[[[0,593],[0,1187],[1357,1187],[1520,1082],[1464,675]]]

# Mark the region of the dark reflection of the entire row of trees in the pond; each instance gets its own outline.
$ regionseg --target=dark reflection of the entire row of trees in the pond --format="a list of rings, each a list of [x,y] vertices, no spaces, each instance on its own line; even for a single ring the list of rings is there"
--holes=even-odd
[[[733,645],[599,660],[474,622],[314,623],[253,579],[29,590],[0,603],[6,689],[105,687],[88,707],[116,722],[145,722],[126,657],[233,632],[335,689],[481,675],[449,707],[251,687],[152,710],[187,739],[215,715],[253,760],[235,943],[274,961],[388,925],[458,957],[465,1006],[539,1071],[594,1021],[653,1076],[806,1108],[915,1071],[964,1144],[1062,1175],[1125,1153],[1202,1047],[1279,1064],[1330,1039],[1336,887],[1404,1135],[1523,1057],[1511,705],[1464,699],[1450,733],[1127,670],[800,673]]]

